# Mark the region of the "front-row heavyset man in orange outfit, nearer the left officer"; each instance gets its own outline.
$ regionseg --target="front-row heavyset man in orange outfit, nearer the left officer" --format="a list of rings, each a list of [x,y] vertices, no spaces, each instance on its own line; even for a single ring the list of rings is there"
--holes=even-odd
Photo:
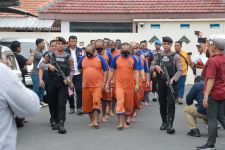
[[[99,127],[100,99],[102,89],[106,83],[108,66],[104,58],[95,52],[93,45],[88,45],[86,56],[78,63],[78,69],[82,70],[82,104],[83,112],[88,113],[91,124],[96,129]],[[104,74],[103,74],[104,72]]]

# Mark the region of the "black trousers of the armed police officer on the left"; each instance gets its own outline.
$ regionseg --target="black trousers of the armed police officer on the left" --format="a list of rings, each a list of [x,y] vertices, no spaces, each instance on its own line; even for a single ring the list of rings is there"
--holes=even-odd
[[[49,83],[49,100],[52,105],[51,118],[55,121],[66,120],[66,102],[68,86],[65,86],[63,79],[52,80]]]

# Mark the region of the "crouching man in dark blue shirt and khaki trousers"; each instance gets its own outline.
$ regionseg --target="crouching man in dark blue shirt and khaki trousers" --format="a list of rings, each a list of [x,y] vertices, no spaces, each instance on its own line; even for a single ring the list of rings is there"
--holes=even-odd
[[[186,96],[187,106],[184,108],[185,118],[188,122],[188,126],[191,129],[187,133],[189,136],[200,137],[200,131],[197,127],[197,118],[203,119],[208,124],[208,118],[206,116],[206,109],[203,106],[203,89],[204,79],[201,76],[195,78],[195,84]],[[195,104],[195,102],[197,104]]]

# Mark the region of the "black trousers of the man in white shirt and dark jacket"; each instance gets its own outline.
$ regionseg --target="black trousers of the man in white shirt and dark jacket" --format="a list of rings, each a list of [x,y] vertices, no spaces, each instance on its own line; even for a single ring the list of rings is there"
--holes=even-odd
[[[77,108],[80,109],[82,108],[82,75],[74,75],[73,76],[73,84],[75,87],[75,92],[76,92],[76,105]],[[71,96],[68,98],[69,100],[69,104],[70,104],[70,108],[75,108],[74,105],[74,96]]]

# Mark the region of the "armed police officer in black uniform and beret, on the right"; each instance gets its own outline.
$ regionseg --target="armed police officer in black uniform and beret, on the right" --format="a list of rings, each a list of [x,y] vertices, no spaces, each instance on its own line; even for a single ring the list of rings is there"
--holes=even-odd
[[[173,121],[175,117],[175,101],[169,90],[168,83],[175,85],[179,77],[181,76],[181,65],[179,55],[172,53],[171,46],[173,40],[170,37],[163,37],[163,53],[158,53],[155,58],[155,64],[152,67],[157,74],[158,82],[158,95],[160,104],[160,114],[162,118],[162,125],[160,130],[167,130],[168,134],[175,133],[173,128]],[[162,61],[162,62],[160,62]],[[170,81],[167,81],[160,64],[163,63],[168,71]]]

